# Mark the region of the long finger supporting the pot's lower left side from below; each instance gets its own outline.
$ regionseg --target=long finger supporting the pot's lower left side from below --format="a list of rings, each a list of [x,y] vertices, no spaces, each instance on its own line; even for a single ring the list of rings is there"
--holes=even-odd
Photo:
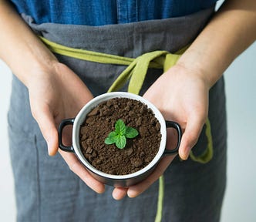
[[[83,180],[96,193],[104,193],[105,186],[103,183],[94,179],[93,176],[83,167],[82,163],[76,158],[76,156],[72,153],[66,153],[62,150],[59,150],[59,153],[62,155],[62,158],[66,161],[69,166],[69,169],[72,170],[73,173],[76,173],[78,177]]]

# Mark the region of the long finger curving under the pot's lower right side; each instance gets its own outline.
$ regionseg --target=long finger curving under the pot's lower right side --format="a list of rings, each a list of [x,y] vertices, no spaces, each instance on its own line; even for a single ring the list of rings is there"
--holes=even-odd
[[[137,197],[145,190],[147,190],[163,174],[164,170],[167,169],[174,157],[175,156],[164,157],[163,160],[161,160],[160,163],[157,165],[156,170],[154,170],[149,177],[147,177],[142,182],[129,187],[127,190],[128,197]]]

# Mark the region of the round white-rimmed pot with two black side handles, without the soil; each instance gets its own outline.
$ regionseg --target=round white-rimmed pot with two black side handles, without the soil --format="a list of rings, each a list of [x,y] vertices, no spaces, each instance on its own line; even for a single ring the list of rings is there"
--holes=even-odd
[[[148,108],[152,109],[155,117],[158,119],[160,123],[160,133],[162,134],[160,141],[160,148],[158,150],[157,155],[153,158],[153,160],[144,167],[142,170],[136,171],[135,173],[130,173],[127,175],[112,175],[108,173],[103,173],[93,167],[87,160],[86,157],[83,156],[80,143],[79,143],[79,132],[80,126],[86,119],[87,113],[89,113],[93,108],[95,108],[99,103],[102,103],[106,100],[113,98],[129,98],[139,100],[141,103],[144,103],[148,106]],[[72,127],[72,146],[64,146],[62,143],[62,130],[67,125],[73,125]],[[167,143],[167,128],[172,127],[177,130],[177,146],[173,150],[166,149]],[[153,171],[153,169],[157,166],[157,163],[161,160],[161,158],[165,155],[173,155],[178,152],[180,146],[180,140],[182,136],[182,131],[180,125],[178,123],[172,121],[166,121],[163,119],[162,114],[156,106],[153,106],[147,99],[144,99],[142,96],[136,96],[132,93],[124,93],[124,92],[114,92],[114,93],[105,93],[100,96],[96,96],[94,99],[90,100],[89,103],[86,103],[85,106],[79,111],[78,115],[73,119],[63,119],[62,123],[59,124],[59,148],[66,152],[76,153],[78,159],[83,163],[89,173],[96,178],[96,180],[101,181],[102,183],[106,183],[109,185],[113,185],[115,187],[128,187],[135,183],[139,183],[144,180],[149,174]]]

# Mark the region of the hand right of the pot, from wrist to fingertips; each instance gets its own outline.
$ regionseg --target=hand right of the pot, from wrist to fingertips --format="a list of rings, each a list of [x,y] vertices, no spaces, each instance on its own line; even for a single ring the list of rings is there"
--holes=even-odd
[[[190,150],[197,143],[207,119],[209,89],[201,73],[176,65],[160,76],[143,96],[160,109],[166,120],[180,124],[184,134],[179,156],[183,160],[187,160]],[[176,146],[176,142],[173,132],[168,129],[167,149]],[[153,173],[142,182],[128,188],[116,187],[113,197],[116,200],[126,194],[128,197],[137,197],[163,174],[174,157],[163,157]]]

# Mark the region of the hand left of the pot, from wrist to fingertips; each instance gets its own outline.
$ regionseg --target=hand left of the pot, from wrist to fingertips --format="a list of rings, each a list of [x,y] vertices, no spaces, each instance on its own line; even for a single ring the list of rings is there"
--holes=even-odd
[[[62,119],[76,116],[79,110],[93,99],[93,95],[71,69],[59,62],[56,62],[50,70],[36,70],[35,75],[29,80],[28,89],[32,115],[47,142],[49,155],[55,155],[59,146],[57,131],[59,123]],[[69,132],[65,131],[68,130],[63,132],[63,143],[70,144],[70,129]],[[70,170],[90,188],[97,193],[104,192],[103,183],[95,180],[73,153],[62,150],[59,150],[59,153]]]

